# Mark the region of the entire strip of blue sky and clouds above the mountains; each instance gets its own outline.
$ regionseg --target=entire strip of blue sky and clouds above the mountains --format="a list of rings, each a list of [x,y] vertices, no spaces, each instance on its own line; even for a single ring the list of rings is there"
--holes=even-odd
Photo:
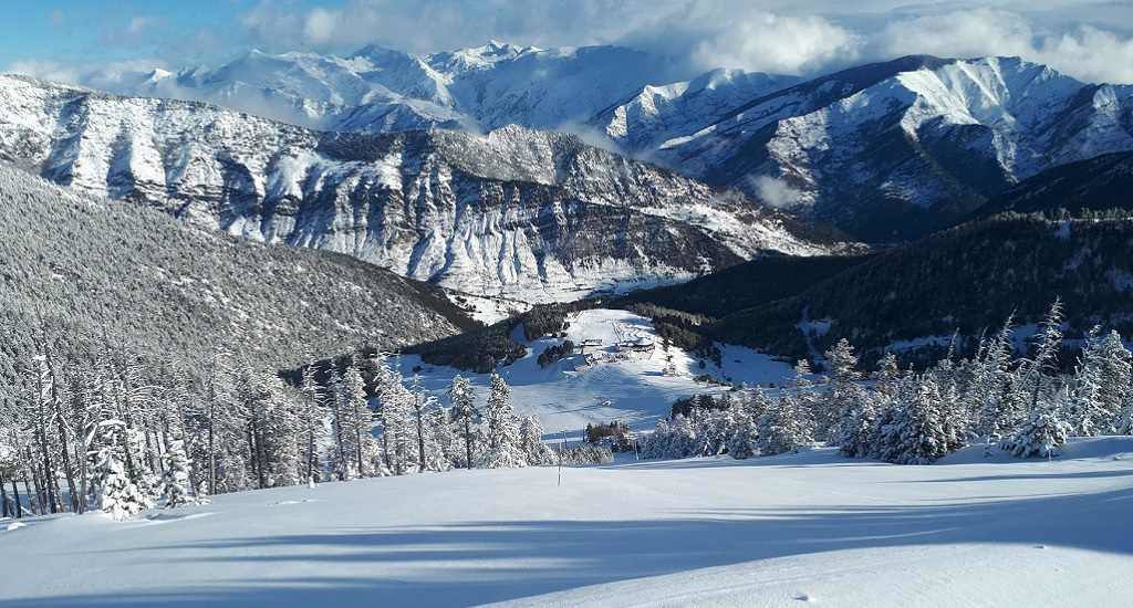
[[[1022,55],[1133,83],[1128,0],[5,0],[0,71],[99,72],[219,63],[249,48],[409,52],[489,38],[622,44],[690,71],[813,75],[910,53]],[[93,85],[92,85],[93,86]]]

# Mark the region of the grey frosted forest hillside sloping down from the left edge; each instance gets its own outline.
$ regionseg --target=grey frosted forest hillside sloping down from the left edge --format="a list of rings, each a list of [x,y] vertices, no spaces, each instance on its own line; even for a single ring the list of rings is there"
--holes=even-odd
[[[34,334],[91,358],[112,342],[164,359],[392,349],[476,324],[436,288],[347,256],[269,247],[156,211],[76,196],[0,165],[0,376]]]

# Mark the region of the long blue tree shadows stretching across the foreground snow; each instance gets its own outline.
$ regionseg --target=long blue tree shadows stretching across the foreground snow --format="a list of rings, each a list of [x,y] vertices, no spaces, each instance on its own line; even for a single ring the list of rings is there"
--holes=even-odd
[[[976,504],[695,509],[644,521],[485,521],[424,529],[329,524],[320,533],[139,551],[140,560],[161,572],[201,567],[224,573],[219,580],[191,586],[150,580],[148,589],[135,592],[5,606],[458,606],[843,549],[990,542],[1133,555],[1131,498],[1133,488]],[[99,563],[97,550],[77,550]],[[335,574],[313,574],[327,571]]]

